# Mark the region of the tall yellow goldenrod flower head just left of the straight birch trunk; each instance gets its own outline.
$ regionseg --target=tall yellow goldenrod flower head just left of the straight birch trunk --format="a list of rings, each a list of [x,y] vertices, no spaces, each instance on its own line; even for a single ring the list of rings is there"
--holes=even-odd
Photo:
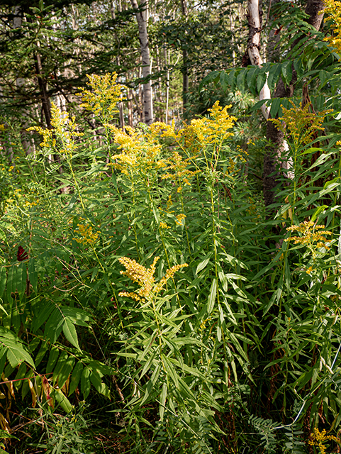
[[[82,96],[81,106],[94,112],[96,116],[101,117],[101,120],[107,123],[113,118],[113,114],[118,112],[116,105],[124,99],[122,92],[125,86],[116,82],[118,77],[116,72],[104,76],[86,74],[86,77],[89,79],[91,90],[80,88],[81,93],[78,93],[78,95]]]

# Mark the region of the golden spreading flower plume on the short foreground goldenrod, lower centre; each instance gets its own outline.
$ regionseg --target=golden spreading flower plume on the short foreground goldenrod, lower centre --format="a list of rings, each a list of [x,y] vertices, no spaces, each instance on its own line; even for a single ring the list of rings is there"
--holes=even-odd
[[[128,276],[133,282],[137,282],[140,285],[140,289],[138,292],[120,292],[120,297],[130,297],[135,299],[136,301],[140,301],[150,297],[152,294],[153,296],[157,296],[167,283],[169,279],[174,277],[175,273],[179,271],[183,267],[187,267],[188,265],[184,263],[183,265],[174,265],[174,267],[169,268],[166,271],[166,275],[160,279],[160,282],[155,283],[155,265],[157,264],[157,260],[160,257],[155,257],[152,265],[149,268],[140,265],[136,260],[133,260],[128,257],[121,257],[118,261],[125,267],[125,271],[121,271],[121,275]]]

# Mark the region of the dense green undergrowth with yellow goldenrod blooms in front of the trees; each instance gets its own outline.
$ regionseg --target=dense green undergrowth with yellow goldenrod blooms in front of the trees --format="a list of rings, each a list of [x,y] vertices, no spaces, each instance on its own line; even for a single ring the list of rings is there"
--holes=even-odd
[[[279,118],[294,179],[268,219],[257,138],[236,143],[228,106],[123,130],[122,91],[115,74],[89,80],[92,131],[53,106],[29,183],[0,167],[1,427],[18,436],[29,407],[27,453],[308,453],[317,430],[337,443],[340,138],[315,146],[328,113]]]

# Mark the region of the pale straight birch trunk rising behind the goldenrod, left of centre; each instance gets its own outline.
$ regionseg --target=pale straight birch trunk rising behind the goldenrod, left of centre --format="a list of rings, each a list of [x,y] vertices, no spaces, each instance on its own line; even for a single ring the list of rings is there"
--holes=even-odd
[[[138,35],[140,39],[140,49],[142,58],[142,76],[146,79],[150,77],[150,51],[147,33],[147,4],[138,6],[137,0],[131,0],[133,9],[135,9],[136,19],[138,21]],[[143,111],[145,113],[145,123],[150,125],[153,122],[152,111],[152,84],[150,80],[143,84]]]

